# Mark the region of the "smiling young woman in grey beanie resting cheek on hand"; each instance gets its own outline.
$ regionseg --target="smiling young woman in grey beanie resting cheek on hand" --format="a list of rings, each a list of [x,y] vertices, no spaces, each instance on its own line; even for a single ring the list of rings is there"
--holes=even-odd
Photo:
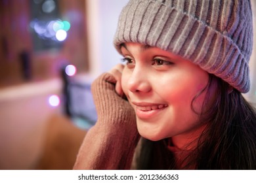
[[[93,83],[98,121],[74,169],[256,169],[251,14],[249,0],[129,1],[125,65]]]

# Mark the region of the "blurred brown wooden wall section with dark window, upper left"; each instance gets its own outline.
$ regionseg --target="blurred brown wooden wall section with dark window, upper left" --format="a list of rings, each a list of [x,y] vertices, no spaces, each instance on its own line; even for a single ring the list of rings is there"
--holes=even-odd
[[[55,1],[58,14],[43,11]],[[83,0],[0,0],[0,88],[58,77],[68,63],[88,71],[85,8]],[[71,24],[64,41],[53,31],[57,19]]]

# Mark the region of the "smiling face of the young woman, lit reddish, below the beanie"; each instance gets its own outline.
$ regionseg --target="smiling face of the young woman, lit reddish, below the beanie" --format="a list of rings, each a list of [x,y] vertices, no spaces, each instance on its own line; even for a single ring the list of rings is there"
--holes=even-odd
[[[208,73],[156,47],[127,42],[121,52],[126,61],[121,86],[135,109],[140,135],[151,141],[173,137],[174,144],[198,135],[205,92],[196,96],[207,86]],[[191,107],[195,97],[193,108],[198,114]]]

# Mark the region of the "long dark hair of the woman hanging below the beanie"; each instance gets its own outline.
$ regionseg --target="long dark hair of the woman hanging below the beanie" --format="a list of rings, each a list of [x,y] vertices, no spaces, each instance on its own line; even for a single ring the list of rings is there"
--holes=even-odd
[[[214,85],[214,100],[209,102]],[[205,110],[200,114],[207,127],[196,139],[198,146],[184,159],[182,169],[256,169],[255,109],[238,90],[229,89],[226,82],[210,75]],[[165,141],[142,139],[137,169],[176,169]]]

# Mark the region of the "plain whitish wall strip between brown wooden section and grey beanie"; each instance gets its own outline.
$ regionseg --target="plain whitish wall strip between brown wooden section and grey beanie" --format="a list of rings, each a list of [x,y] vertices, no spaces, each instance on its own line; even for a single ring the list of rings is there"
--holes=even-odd
[[[87,1],[88,50],[93,77],[121,63],[121,56],[113,45],[113,38],[121,9],[128,0]]]

